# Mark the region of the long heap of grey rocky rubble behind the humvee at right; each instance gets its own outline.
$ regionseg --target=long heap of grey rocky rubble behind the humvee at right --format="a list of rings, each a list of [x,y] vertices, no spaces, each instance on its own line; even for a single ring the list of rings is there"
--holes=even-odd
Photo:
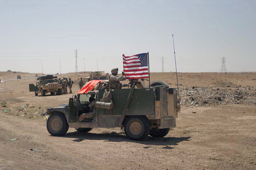
[[[218,104],[255,104],[256,88],[214,88],[190,87],[180,88],[181,105],[215,106]]]

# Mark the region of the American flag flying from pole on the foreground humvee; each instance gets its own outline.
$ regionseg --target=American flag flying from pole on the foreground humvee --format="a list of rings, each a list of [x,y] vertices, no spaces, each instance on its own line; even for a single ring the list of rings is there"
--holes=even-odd
[[[148,78],[148,53],[125,57],[123,55],[126,79]]]

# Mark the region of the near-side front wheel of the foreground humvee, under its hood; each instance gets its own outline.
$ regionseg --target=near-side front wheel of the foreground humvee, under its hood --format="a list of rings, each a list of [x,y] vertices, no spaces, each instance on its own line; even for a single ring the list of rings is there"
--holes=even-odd
[[[48,118],[46,127],[51,135],[63,136],[67,133],[69,125],[63,114],[54,113]]]

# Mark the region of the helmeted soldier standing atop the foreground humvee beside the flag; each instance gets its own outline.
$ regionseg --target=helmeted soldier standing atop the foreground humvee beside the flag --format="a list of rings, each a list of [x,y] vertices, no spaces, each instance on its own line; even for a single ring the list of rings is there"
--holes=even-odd
[[[117,76],[118,68],[113,68],[111,70],[112,75],[109,76],[109,84],[110,88],[121,89],[122,84],[119,81],[125,80],[124,72],[122,72],[122,76]]]

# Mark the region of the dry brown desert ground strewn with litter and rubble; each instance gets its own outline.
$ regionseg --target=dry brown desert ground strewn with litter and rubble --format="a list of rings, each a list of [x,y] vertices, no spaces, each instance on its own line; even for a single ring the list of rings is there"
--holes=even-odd
[[[88,72],[62,74],[74,81],[73,94],[44,97],[29,92],[35,74],[42,75],[0,72],[0,170],[256,169],[256,72],[178,73],[182,108],[176,127],[144,141],[128,139],[120,128],[50,135],[41,114],[68,103]],[[155,80],[177,87],[173,72],[150,73]]]

